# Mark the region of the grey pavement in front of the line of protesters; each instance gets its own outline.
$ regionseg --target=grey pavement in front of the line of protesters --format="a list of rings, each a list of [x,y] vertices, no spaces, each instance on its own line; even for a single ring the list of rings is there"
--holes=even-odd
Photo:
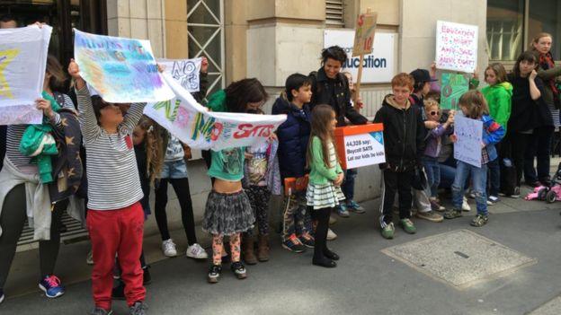
[[[225,266],[218,284],[207,284],[207,262],[164,258],[159,237],[148,237],[148,313],[561,314],[561,203],[503,197],[481,228],[469,225],[475,215],[469,203],[473,210],[462,218],[414,219],[416,234],[397,228],[388,241],[379,234],[379,200],[366,201],[367,214],[338,218],[332,227],[339,235],[328,243],[341,256],[336,268],[312,266],[312,250],[291,253],[274,234],[269,262],[247,267],[245,280]],[[184,250],[183,231],[173,235]],[[201,242],[209,247],[208,238]],[[88,249],[86,242],[62,247],[57,273],[67,293],[55,300],[36,287],[37,251],[18,253],[0,315],[86,314],[93,307]],[[129,313],[121,301],[113,311]]]

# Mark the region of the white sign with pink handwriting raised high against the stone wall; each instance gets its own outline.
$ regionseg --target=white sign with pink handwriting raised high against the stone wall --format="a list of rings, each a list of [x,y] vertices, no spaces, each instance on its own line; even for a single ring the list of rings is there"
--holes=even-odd
[[[477,66],[476,25],[436,22],[436,66],[472,73]]]

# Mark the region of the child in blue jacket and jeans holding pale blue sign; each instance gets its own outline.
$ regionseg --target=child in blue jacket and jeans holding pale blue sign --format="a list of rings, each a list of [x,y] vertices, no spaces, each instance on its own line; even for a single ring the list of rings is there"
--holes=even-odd
[[[454,208],[445,212],[444,217],[447,219],[462,216],[461,205],[464,197],[464,188],[466,179],[471,176],[473,189],[476,193],[477,215],[471,221],[472,226],[480,227],[487,223],[487,197],[486,197],[486,181],[487,181],[487,162],[496,159],[496,149],[494,144],[501,141],[504,136],[504,128],[494,122],[489,117],[489,108],[485,97],[479,91],[472,90],[464,93],[459,98],[459,109],[467,118],[483,121],[483,138],[481,143],[481,167],[476,167],[467,162],[458,161],[456,168],[456,177],[452,184],[452,203]],[[457,137],[454,135],[454,139]],[[476,148],[474,148],[475,150]]]

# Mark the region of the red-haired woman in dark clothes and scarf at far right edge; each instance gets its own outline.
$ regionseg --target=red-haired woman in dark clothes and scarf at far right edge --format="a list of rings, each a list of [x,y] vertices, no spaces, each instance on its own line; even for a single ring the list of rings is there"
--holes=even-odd
[[[553,121],[534,129],[530,139],[528,150],[526,150],[526,161],[524,162],[524,179],[530,186],[537,187],[549,183],[549,153],[551,151],[551,137],[556,127],[559,127],[559,91],[556,86],[556,78],[561,75],[561,66],[556,66],[551,54],[551,43],[553,37],[548,33],[539,33],[532,40],[531,48],[538,57],[538,76],[544,83],[542,94],[543,101],[548,105]],[[538,172],[534,168],[534,157],[538,160]]]

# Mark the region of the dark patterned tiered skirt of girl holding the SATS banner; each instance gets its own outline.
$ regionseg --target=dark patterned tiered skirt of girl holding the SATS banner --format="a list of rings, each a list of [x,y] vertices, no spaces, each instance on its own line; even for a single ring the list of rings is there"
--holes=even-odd
[[[202,231],[232,235],[254,228],[254,211],[245,191],[222,194],[210,191],[202,218]]]

